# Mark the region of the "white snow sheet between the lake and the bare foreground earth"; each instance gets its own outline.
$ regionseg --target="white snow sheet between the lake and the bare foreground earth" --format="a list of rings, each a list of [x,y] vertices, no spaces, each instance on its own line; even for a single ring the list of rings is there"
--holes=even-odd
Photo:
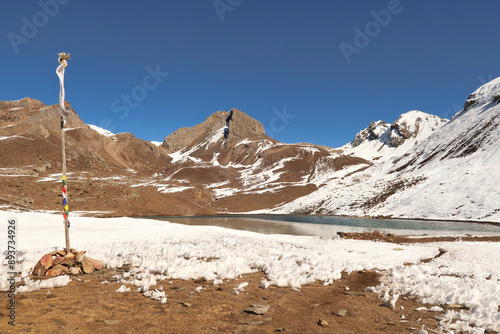
[[[28,275],[43,254],[64,246],[59,215],[0,211],[0,230],[5,231],[2,247],[7,244],[9,218],[18,220],[16,247],[22,276]],[[336,237],[264,235],[133,218],[75,217],[70,233],[72,247],[86,250],[108,268],[124,264],[134,267],[120,278],[124,289],[139,287],[151,296],[161,294],[159,290],[148,290],[164,279],[204,277],[220,283],[262,270],[267,275],[262,287],[300,288],[314,281],[329,284],[342,272],[379,270],[383,282],[372,289],[396,300],[396,305],[400,294],[433,305],[461,304],[470,308],[443,313],[441,326],[445,331],[500,331],[500,243],[395,245]],[[437,256],[440,249],[444,255],[420,263],[421,259]],[[3,260],[0,267],[1,290],[8,288],[6,264]],[[45,285],[65,285],[68,281],[58,279]],[[29,280],[24,283],[21,291],[36,289],[37,284],[43,287]],[[163,295],[160,300],[165,301]]]

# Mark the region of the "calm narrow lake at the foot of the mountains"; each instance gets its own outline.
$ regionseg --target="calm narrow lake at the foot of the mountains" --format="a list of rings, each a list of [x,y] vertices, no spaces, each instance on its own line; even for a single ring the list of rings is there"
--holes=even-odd
[[[500,225],[429,220],[360,219],[336,216],[230,215],[148,217],[172,223],[220,226],[265,234],[334,236],[337,232],[381,231],[406,235],[500,235]]]

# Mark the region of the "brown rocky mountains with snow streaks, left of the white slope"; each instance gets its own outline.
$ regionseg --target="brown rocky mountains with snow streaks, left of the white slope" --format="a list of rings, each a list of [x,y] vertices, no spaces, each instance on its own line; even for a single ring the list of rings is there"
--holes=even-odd
[[[70,110],[66,155],[70,211],[102,215],[200,215],[273,208],[307,195],[318,166],[368,165],[312,144],[284,144],[232,109],[161,146],[129,133],[106,136]],[[0,206],[58,211],[60,116],[38,100],[0,102]]]

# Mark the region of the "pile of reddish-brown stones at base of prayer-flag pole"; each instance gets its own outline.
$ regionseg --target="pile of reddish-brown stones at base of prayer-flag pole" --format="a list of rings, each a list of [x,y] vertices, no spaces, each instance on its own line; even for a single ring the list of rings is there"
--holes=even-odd
[[[33,275],[54,277],[64,274],[79,275],[91,274],[102,268],[102,262],[85,255],[85,251],[77,251],[71,248],[57,250],[45,254],[33,269]]]

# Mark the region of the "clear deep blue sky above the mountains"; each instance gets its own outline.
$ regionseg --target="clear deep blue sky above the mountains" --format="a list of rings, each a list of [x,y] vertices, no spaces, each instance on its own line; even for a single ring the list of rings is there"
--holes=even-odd
[[[336,147],[411,109],[450,117],[500,76],[497,0],[42,3],[2,4],[0,100],[56,104],[57,53],[71,52],[66,98],[80,117],[146,140],[235,107],[280,141]]]

